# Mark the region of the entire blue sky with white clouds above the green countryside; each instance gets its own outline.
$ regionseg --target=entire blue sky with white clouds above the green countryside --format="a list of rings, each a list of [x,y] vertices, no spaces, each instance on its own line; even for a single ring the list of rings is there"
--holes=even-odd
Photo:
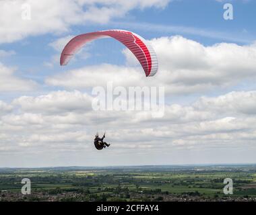
[[[226,2],[1,0],[0,167],[256,163],[256,3],[228,1],[225,20]],[[150,40],[158,73],[111,39],[59,66],[73,36],[107,29]],[[95,112],[92,89],[108,81],[164,86],[164,117]]]

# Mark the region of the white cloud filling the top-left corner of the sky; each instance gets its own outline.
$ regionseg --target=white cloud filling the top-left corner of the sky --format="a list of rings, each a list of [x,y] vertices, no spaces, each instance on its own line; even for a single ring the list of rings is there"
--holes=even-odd
[[[170,0],[2,0],[0,1],[0,43],[27,36],[67,32],[71,25],[105,24],[132,9],[165,7]]]

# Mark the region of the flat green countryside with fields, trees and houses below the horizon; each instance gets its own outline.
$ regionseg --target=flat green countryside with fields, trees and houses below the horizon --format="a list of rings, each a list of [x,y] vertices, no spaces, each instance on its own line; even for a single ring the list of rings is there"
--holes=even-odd
[[[227,177],[232,195],[223,192]],[[255,202],[256,165],[0,168],[0,191],[0,201]]]

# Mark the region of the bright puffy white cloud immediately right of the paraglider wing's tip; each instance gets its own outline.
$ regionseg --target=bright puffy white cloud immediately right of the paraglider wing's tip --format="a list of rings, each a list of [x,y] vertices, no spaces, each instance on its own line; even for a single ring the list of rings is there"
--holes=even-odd
[[[154,39],[152,44],[164,74],[158,81],[166,85],[225,87],[256,76],[255,44],[203,46],[181,36]]]

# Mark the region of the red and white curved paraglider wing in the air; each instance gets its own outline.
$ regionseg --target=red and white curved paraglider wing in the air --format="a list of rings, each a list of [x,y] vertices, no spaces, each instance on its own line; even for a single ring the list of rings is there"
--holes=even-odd
[[[141,36],[125,30],[106,30],[80,34],[70,40],[61,53],[61,65],[65,65],[86,43],[98,38],[111,37],[123,43],[139,60],[146,77],[153,76],[158,71],[158,60],[154,49]]]

